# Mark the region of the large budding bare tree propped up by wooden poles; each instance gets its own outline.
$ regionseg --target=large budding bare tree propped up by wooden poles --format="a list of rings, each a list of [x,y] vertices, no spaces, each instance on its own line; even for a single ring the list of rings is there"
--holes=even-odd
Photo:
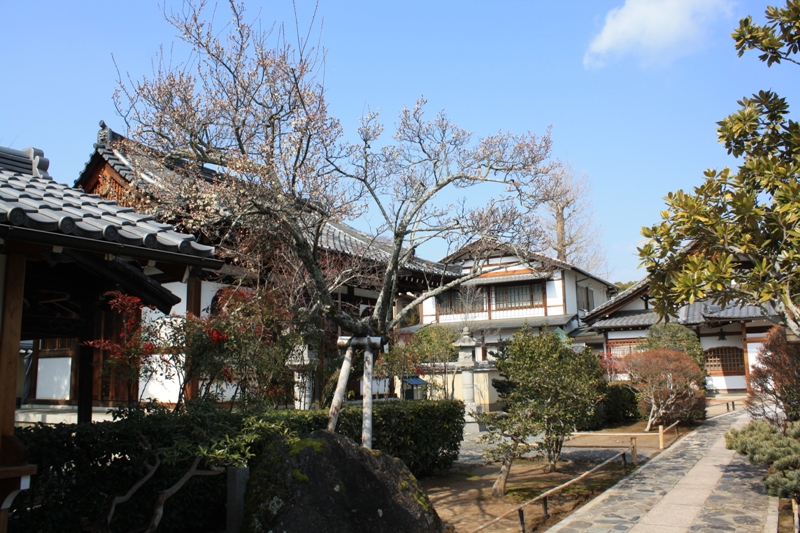
[[[162,52],[151,77],[121,77],[115,95],[129,136],[148,147],[148,156],[181,162],[174,179],[148,185],[188,228],[224,227],[221,242],[233,238],[237,250],[264,234],[280,239],[303,267],[305,311],[367,339],[387,339],[424,300],[506,268],[488,264],[498,242],[520,261],[540,249],[541,235],[531,228],[538,227],[536,209],[552,168],[549,131],[476,139],[444,112],[428,118],[420,98],[401,111],[391,139],[370,112],[357,141],[346,142],[319,81],[324,54],[308,35],[291,45],[282,27],[262,31],[247,22],[233,0],[220,31],[205,7],[187,0],[167,16],[192,50],[186,63],[173,65]],[[209,168],[216,171],[210,178]],[[186,179],[189,171],[197,179]],[[466,196],[476,187],[485,199],[480,205],[459,199],[459,191]],[[353,260],[326,268],[326,252],[341,244],[330,242],[330,224],[363,215],[378,221],[374,239],[351,243]],[[472,243],[474,268],[462,275],[430,269],[424,288],[394,313],[406,267],[431,240],[449,251]],[[378,296],[372,312],[359,317],[342,310],[335,294],[364,279],[373,280]]]

